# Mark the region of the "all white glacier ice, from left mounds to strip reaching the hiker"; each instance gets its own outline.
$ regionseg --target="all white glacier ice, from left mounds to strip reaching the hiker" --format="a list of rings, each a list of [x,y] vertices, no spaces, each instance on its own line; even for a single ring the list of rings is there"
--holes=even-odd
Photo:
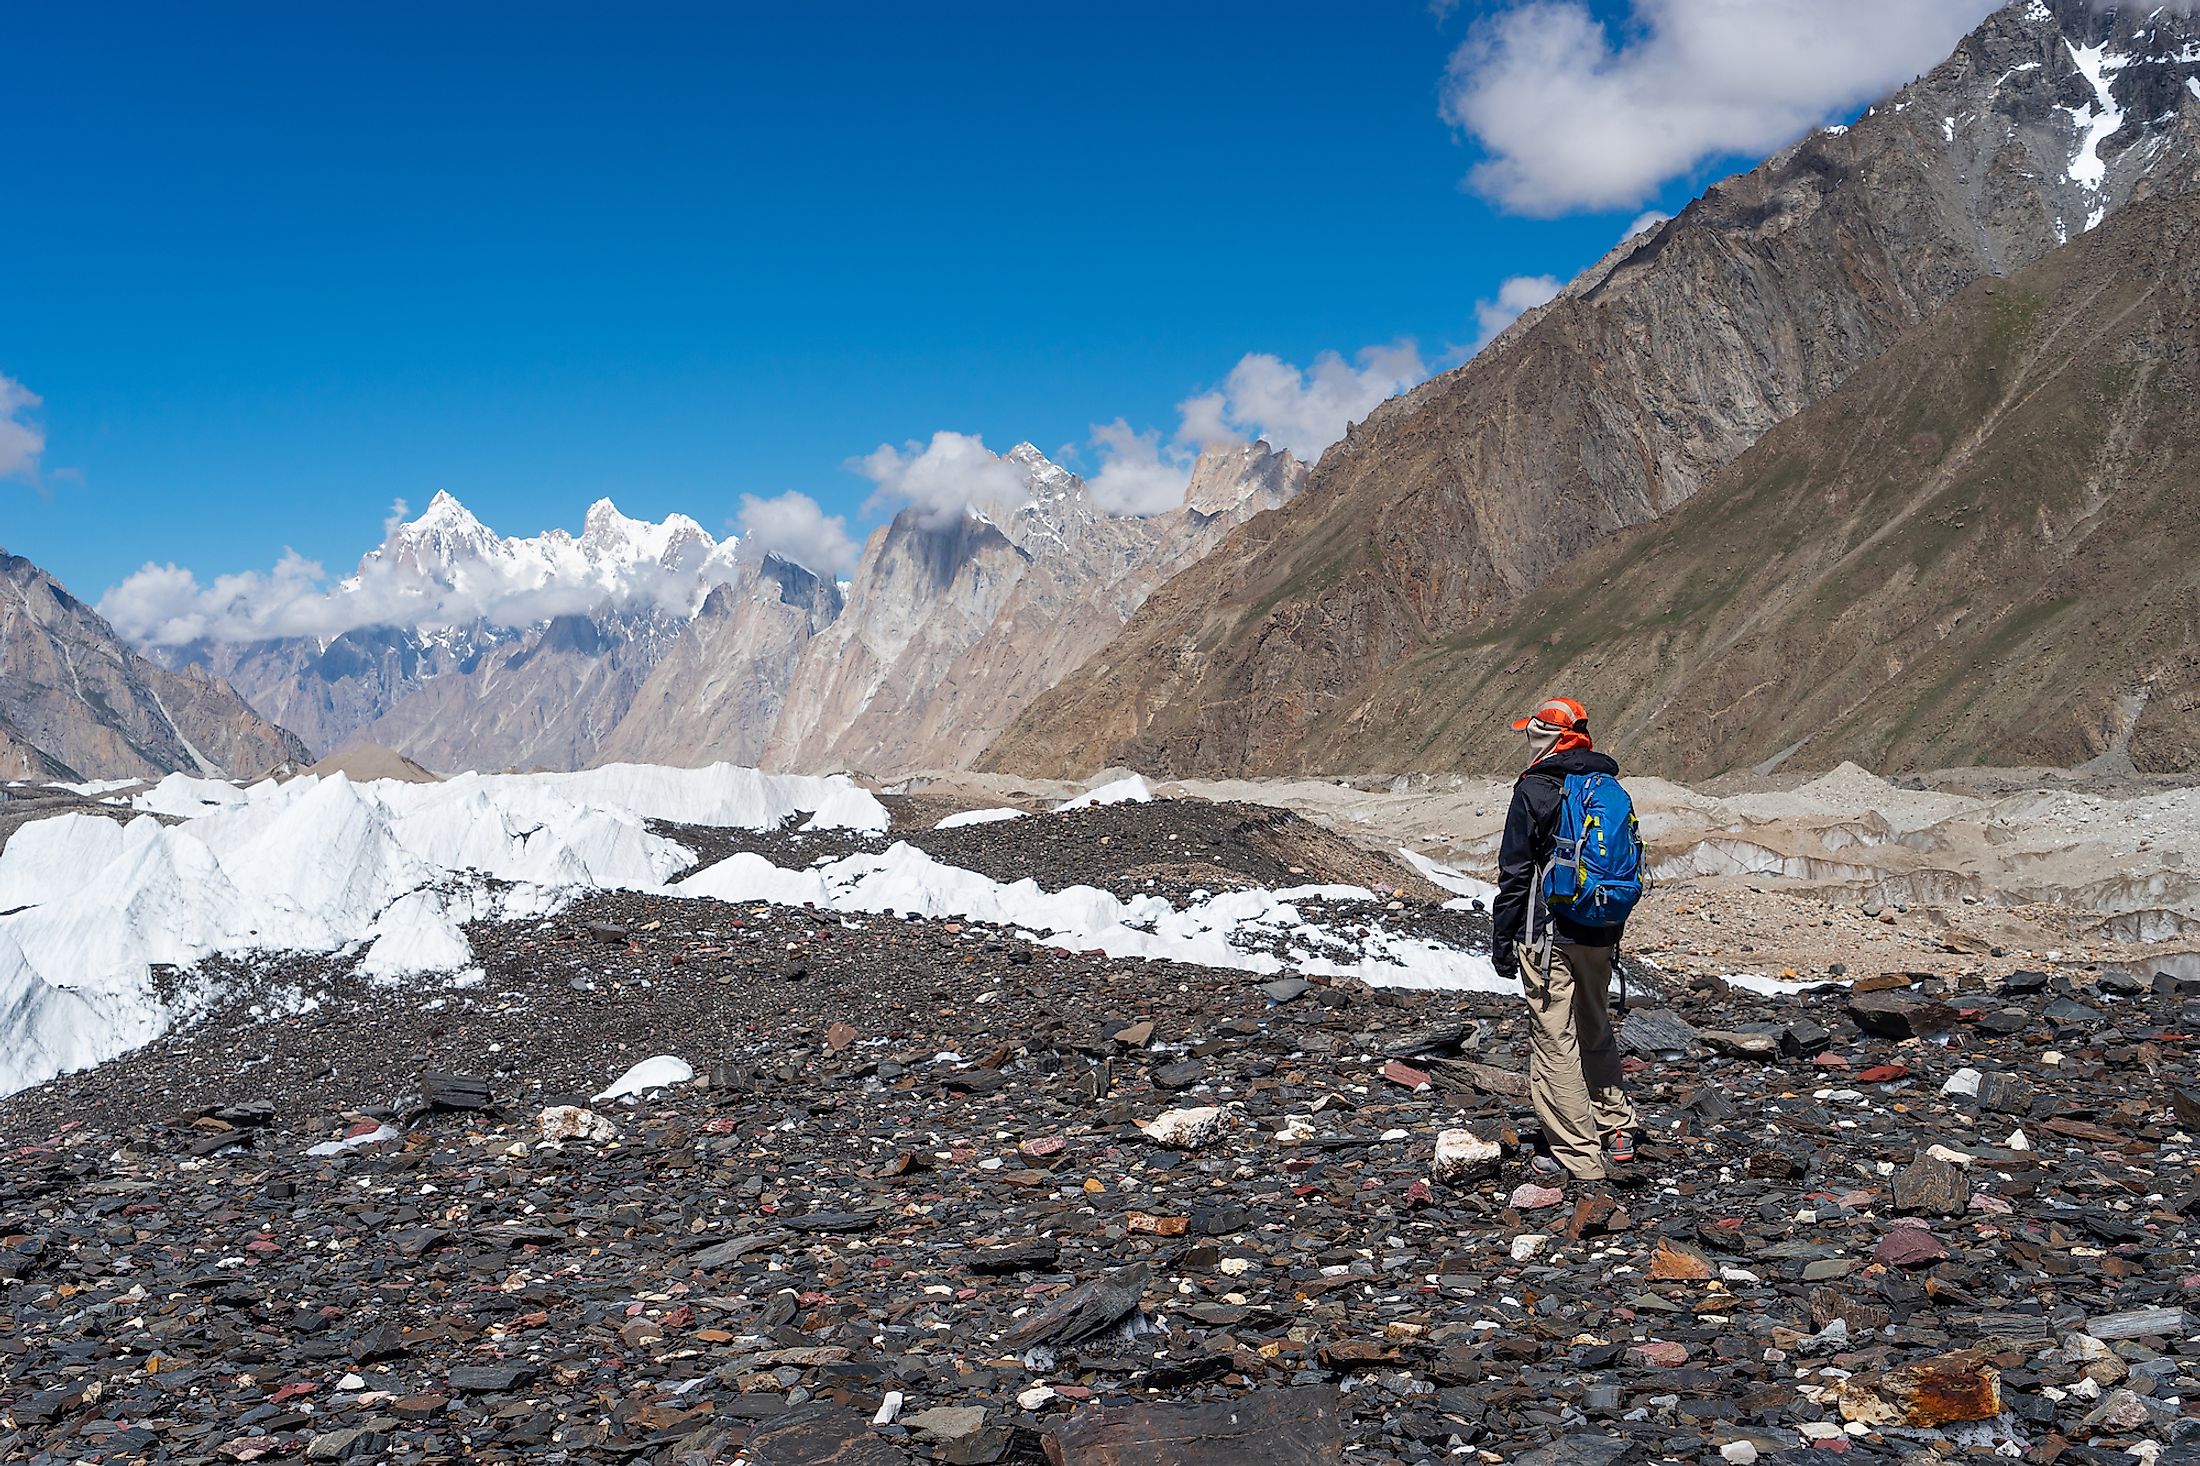
[[[1133,777],[1065,808],[1151,797]],[[220,997],[207,977],[163,984],[156,966],[341,953],[367,980],[458,973],[473,962],[466,922],[548,916],[601,889],[961,918],[1115,958],[1507,991],[1485,953],[1386,927],[1360,887],[1197,894],[1177,907],[1151,894],[999,883],[906,843],[807,869],[735,854],[691,872],[693,854],[649,830],[651,819],[752,830],[801,821],[882,834],[884,806],[840,777],[609,766],[440,784],[301,775],[235,788],[172,775],[136,803],[128,823],[35,821],[0,852],[0,1094],[128,1052]],[[1487,889],[1415,863],[1450,889]],[[1322,911],[1318,900],[1364,909]]]

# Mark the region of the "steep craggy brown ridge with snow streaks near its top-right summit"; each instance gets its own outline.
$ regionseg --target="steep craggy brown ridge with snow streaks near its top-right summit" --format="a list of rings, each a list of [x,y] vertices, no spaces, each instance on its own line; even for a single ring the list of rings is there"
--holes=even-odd
[[[1368,416],[1157,590],[983,766],[1344,768],[1450,654],[1685,504],[1965,286],[2200,185],[2200,13],[2024,0],[1846,130],[1712,187],[1481,357]],[[1443,751],[1428,755],[1443,762]]]

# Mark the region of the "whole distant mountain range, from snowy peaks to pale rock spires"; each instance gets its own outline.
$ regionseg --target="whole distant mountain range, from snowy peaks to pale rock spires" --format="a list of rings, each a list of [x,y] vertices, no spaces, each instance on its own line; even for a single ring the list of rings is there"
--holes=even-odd
[[[436,495],[297,612],[330,634],[156,656],[224,678],[317,755],[374,742],[447,770],[955,766],[1305,480],[1265,445],[1217,449],[1179,508],[1120,517],[1032,445],[1003,460],[1021,495],[946,524],[904,511],[847,586],[684,515],[649,524],[605,500],[579,537],[506,539]]]

